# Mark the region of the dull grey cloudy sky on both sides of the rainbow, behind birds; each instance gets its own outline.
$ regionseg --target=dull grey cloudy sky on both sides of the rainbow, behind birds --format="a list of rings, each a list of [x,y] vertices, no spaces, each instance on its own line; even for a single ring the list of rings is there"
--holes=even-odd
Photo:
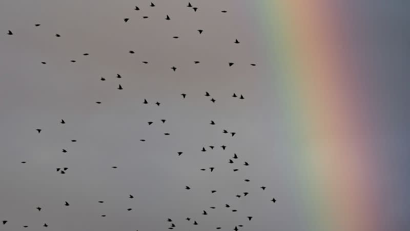
[[[272,87],[278,64],[268,58],[274,41],[263,4],[191,1],[194,12],[188,1],[154,3],[0,2],[0,220],[8,220],[1,230],[44,230],[44,223],[61,231],[166,230],[167,218],[175,230],[308,230],[294,163],[283,148],[294,142]],[[407,230],[409,6],[339,5],[352,56],[365,63],[357,89],[366,89],[365,115],[377,140],[381,223]],[[64,167],[66,174],[56,171]],[[249,195],[235,197],[243,192]]]

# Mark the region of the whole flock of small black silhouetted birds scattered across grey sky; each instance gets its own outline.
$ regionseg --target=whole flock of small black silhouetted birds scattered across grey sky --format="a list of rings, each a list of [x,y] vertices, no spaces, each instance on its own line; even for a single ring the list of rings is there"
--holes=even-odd
[[[151,2],[151,4],[149,4],[149,7],[155,7],[155,4]],[[195,12],[198,10],[198,8],[197,8],[197,7],[193,7],[193,6],[191,5],[191,3],[188,3],[187,7],[192,8]],[[138,6],[135,6],[135,9],[134,9],[134,10],[139,11],[140,8],[139,8]],[[222,10],[221,12],[222,12],[222,13],[226,13],[227,11],[226,11],[226,10]],[[148,18],[148,16],[144,16],[143,18]],[[166,19],[166,20],[171,20],[171,17],[170,17],[169,15],[166,15],[165,19]],[[124,18],[124,22],[125,22],[125,23],[129,22],[129,20],[130,20],[129,18]],[[34,26],[35,26],[35,27],[39,27],[40,24],[35,24]],[[202,34],[202,33],[203,33],[203,30],[197,30],[197,31],[199,32],[199,34]],[[13,36],[14,34],[13,34],[13,32],[12,32],[11,30],[9,30],[8,33],[7,33],[7,35]],[[55,34],[55,36],[56,36],[56,37],[60,37],[59,34]],[[173,38],[179,38],[179,37],[176,37],[176,36],[175,36],[175,37],[173,37]],[[240,42],[238,41],[238,39],[235,39],[234,43],[237,43],[237,44],[238,44],[238,43],[240,43]],[[134,51],[129,51],[129,53],[134,54],[135,52],[134,52]],[[88,56],[89,54],[88,54],[88,53],[84,53],[83,55],[84,55],[84,56]],[[71,62],[76,62],[76,60],[70,60],[70,61],[71,61]],[[144,61],[143,63],[147,64],[148,62]],[[199,61],[195,61],[194,63],[197,64],[197,63],[200,63],[200,62],[199,62]],[[42,62],[42,64],[46,64],[46,62]],[[229,66],[232,66],[232,65],[234,65],[234,63],[229,62],[228,65],[229,65]],[[252,65],[252,66],[256,66],[256,64],[254,64],[254,63],[252,63],[251,65]],[[170,67],[170,68],[171,68],[174,72],[177,70],[177,68],[176,68],[175,66],[172,66],[172,67]],[[120,79],[120,78],[122,78],[122,77],[121,77],[121,75],[117,74],[116,78]],[[100,78],[100,81],[105,81],[105,80],[106,80],[106,79],[105,79],[104,77],[101,77],[101,78]],[[124,89],[124,88],[121,86],[121,84],[118,84],[117,89],[122,90],[122,89]],[[185,94],[185,93],[182,93],[182,94],[180,94],[180,95],[182,96],[182,99],[185,99],[185,98],[187,97],[187,94]],[[213,103],[216,102],[216,100],[208,93],[208,91],[205,92],[204,96],[210,97],[210,98],[211,98],[210,101],[212,101]],[[233,97],[233,98],[239,98],[239,99],[241,99],[241,100],[244,100],[244,99],[245,99],[245,98],[243,97],[243,95],[240,94],[240,96],[238,97],[238,96],[236,95],[236,93],[233,93],[233,95],[232,95],[231,97]],[[97,104],[101,104],[100,101],[97,101],[96,103],[97,103]],[[144,102],[142,102],[142,104],[149,104],[149,102],[147,101],[147,99],[144,99]],[[156,101],[154,104],[156,104],[157,106],[160,106],[160,105],[161,105],[161,103],[159,103],[158,101]],[[160,121],[161,121],[162,123],[166,123],[167,120],[162,119],[162,120],[160,120]],[[148,125],[152,125],[153,123],[154,123],[154,122],[149,121],[149,122],[148,122]],[[61,120],[61,121],[60,121],[60,124],[66,124],[66,122],[65,122],[64,120]],[[210,125],[216,125],[216,123],[211,120]],[[37,128],[37,129],[35,129],[35,130],[37,131],[37,134],[40,134],[43,129]],[[228,134],[228,133],[229,133],[229,134],[231,134],[231,136],[234,136],[234,135],[236,134],[236,132],[228,131],[228,130],[226,130],[226,129],[223,129],[223,130],[222,130],[222,133],[224,133],[224,134]],[[165,135],[170,135],[170,133],[164,133],[164,134],[165,134]],[[141,141],[141,142],[145,142],[146,140],[141,139],[140,141]],[[76,140],[71,140],[71,142],[76,142]],[[210,148],[211,150],[213,150],[213,149],[215,149],[215,146],[208,146],[207,148]],[[226,146],[226,145],[221,145],[220,148],[222,148],[222,150],[225,150],[225,149],[227,148],[227,146]],[[201,149],[200,151],[201,151],[201,152],[206,152],[207,149],[206,149],[205,147],[202,147],[202,149]],[[67,153],[68,151],[67,151],[66,149],[62,149],[62,152],[63,152],[63,153]],[[178,156],[181,156],[181,155],[183,154],[183,152],[177,152],[177,154],[178,154]],[[232,158],[230,158],[229,160],[227,160],[228,163],[233,164],[233,163],[234,163],[234,160],[233,160],[233,159],[235,159],[235,161],[236,161],[237,159],[239,159],[239,157],[238,157],[238,155],[237,155],[236,153],[234,153],[234,155],[232,156]],[[25,164],[26,161],[22,161],[21,163]],[[249,166],[249,163],[248,163],[247,161],[243,161],[243,166],[247,167],[247,166]],[[117,166],[113,166],[113,167],[111,167],[111,168],[116,169]],[[67,168],[67,167],[63,167],[63,168],[60,167],[60,168],[56,168],[56,171],[59,172],[60,174],[66,174],[66,172],[67,172],[68,169],[69,169],[69,168]],[[210,169],[211,172],[213,172],[215,168],[210,167],[209,169]],[[200,169],[200,170],[201,170],[201,171],[206,171],[207,169]],[[239,169],[233,169],[233,171],[236,172],[236,171],[239,171]],[[249,180],[249,179],[244,179],[244,181],[245,181],[245,182],[249,182],[250,180]],[[186,189],[186,190],[191,190],[191,187],[186,186],[185,189]],[[264,190],[266,189],[266,187],[261,186],[260,189],[261,189],[262,191],[264,191]],[[216,190],[211,190],[211,194],[214,194],[214,193],[216,193],[216,192],[217,192]],[[243,197],[249,195],[248,192],[243,192],[242,194],[243,194]],[[237,195],[235,195],[235,197],[241,198],[242,195],[237,194]],[[130,194],[128,198],[133,199],[134,196]],[[272,198],[271,202],[272,202],[272,203],[276,203],[276,199],[275,199],[275,198]],[[104,201],[98,201],[98,203],[104,203]],[[69,204],[67,201],[65,201],[64,205],[65,205],[65,206],[70,206],[70,204]],[[224,207],[227,207],[227,208],[230,208],[230,207],[231,207],[231,205],[229,205],[229,204],[224,204],[223,206],[224,206]],[[35,209],[38,210],[38,212],[41,212],[41,211],[42,211],[42,208],[41,208],[41,207],[36,207]],[[215,206],[211,206],[210,209],[215,209]],[[127,209],[127,211],[131,211],[131,210],[132,210],[131,208]],[[202,212],[202,215],[204,215],[204,216],[206,216],[206,215],[209,214],[206,210],[202,210],[202,211],[203,211],[203,212]],[[237,212],[237,210],[235,210],[235,209],[232,209],[231,211],[232,211],[232,212]],[[106,215],[100,215],[100,216],[101,216],[101,217],[106,217]],[[245,219],[248,219],[249,221],[252,220],[252,218],[253,218],[252,216],[245,217]],[[193,219],[193,218],[191,218],[191,217],[187,217],[185,220],[190,221],[190,222],[192,222],[191,220],[193,220],[192,225],[199,225],[199,224],[200,224],[200,222],[198,222],[198,221],[200,221],[200,218]],[[198,221],[197,221],[197,220],[198,220]],[[168,229],[174,229],[174,228],[177,227],[177,226],[175,225],[174,221],[173,221],[171,218],[166,218],[166,221],[170,223],[170,226],[168,227]],[[6,225],[6,224],[8,223],[8,220],[3,220],[2,223],[3,223],[3,225]],[[43,226],[44,226],[44,227],[48,227],[49,225],[48,225],[47,223],[44,223]],[[28,226],[27,226],[27,225],[24,225],[23,227],[27,228]],[[238,227],[243,227],[243,225],[235,225],[235,227],[234,227],[233,229],[231,229],[231,230],[238,231],[238,230],[239,230]],[[216,229],[221,229],[221,227],[220,227],[220,226],[217,226]],[[138,230],[137,230],[137,231],[138,231]]]

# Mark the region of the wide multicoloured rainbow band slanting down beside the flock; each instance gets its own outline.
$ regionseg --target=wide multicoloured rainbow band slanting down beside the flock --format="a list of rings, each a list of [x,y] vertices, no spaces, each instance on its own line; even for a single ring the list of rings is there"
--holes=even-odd
[[[262,0],[260,24],[267,31],[271,73],[292,131],[291,162],[305,230],[382,230],[371,180],[371,134],[363,75],[348,39],[338,1]],[[295,173],[294,173],[295,174]]]

